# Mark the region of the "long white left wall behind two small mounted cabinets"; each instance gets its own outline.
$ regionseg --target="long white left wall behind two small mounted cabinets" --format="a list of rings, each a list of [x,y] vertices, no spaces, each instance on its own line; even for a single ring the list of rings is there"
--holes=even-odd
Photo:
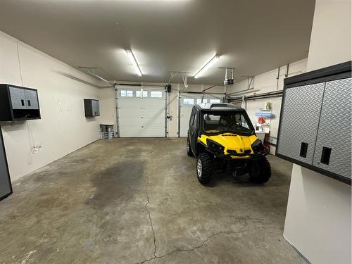
[[[0,123],[11,180],[99,139],[100,118],[85,118],[83,105],[84,98],[99,99],[99,88],[68,76],[101,85],[27,44],[20,42],[18,46],[18,39],[0,32],[0,83],[38,89],[42,115],[41,120]],[[42,148],[31,155],[36,144]]]

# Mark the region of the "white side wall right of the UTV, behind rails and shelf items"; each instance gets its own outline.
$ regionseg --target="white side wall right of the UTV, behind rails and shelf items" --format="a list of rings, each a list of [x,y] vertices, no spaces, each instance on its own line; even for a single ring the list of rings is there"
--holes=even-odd
[[[296,61],[294,63],[289,63],[288,77],[305,73],[306,65],[307,65],[307,58],[304,58],[303,60],[300,60],[300,61]],[[278,90],[282,90],[284,88],[284,78],[285,78],[286,71],[287,71],[287,66],[280,67],[278,82],[277,82],[278,69],[270,70],[266,73],[256,75],[252,82],[251,88],[253,87],[253,90],[258,90],[257,92],[255,92],[256,94],[262,94],[266,92],[276,92]],[[248,85],[247,80],[238,82],[228,90],[228,93],[231,94],[234,92],[245,90],[247,89],[247,85]],[[248,96],[252,94],[253,93],[249,93],[245,95]],[[236,95],[237,94],[234,94],[234,96]],[[264,107],[265,101],[270,101],[272,103],[272,113],[275,115],[275,118],[272,118],[270,122],[270,135],[272,137],[277,137],[282,97],[275,97],[270,99],[256,99],[253,101],[247,101],[246,111],[249,115],[249,118],[251,118],[251,121],[253,122],[253,124],[256,124],[258,122],[258,117],[256,117],[255,113],[259,112],[259,108]],[[275,154],[275,146],[270,146],[270,153]]]

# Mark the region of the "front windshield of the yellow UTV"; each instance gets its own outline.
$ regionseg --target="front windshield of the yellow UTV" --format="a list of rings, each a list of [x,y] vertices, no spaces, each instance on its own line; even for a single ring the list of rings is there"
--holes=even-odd
[[[204,113],[203,124],[204,132],[209,134],[220,132],[251,134],[253,132],[251,121],[243,113]]]

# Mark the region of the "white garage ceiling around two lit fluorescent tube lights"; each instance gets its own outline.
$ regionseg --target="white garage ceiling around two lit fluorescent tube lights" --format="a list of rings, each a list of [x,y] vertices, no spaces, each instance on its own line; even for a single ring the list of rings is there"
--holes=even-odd
[[[312,0],[0,0],[0,30],[65,63],[97,67],[108,80],[219,84],[225,71],[258,75],[308,56]],[[125,49],[144,74],[138,77]]]

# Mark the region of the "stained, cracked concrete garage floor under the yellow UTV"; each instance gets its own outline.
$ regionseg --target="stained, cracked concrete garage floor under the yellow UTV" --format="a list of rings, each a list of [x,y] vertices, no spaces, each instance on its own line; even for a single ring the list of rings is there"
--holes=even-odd
[[[291,163],[203,187],[185,139],[98,141],[14,183],[0,263],[305,263],[282,237]]]

